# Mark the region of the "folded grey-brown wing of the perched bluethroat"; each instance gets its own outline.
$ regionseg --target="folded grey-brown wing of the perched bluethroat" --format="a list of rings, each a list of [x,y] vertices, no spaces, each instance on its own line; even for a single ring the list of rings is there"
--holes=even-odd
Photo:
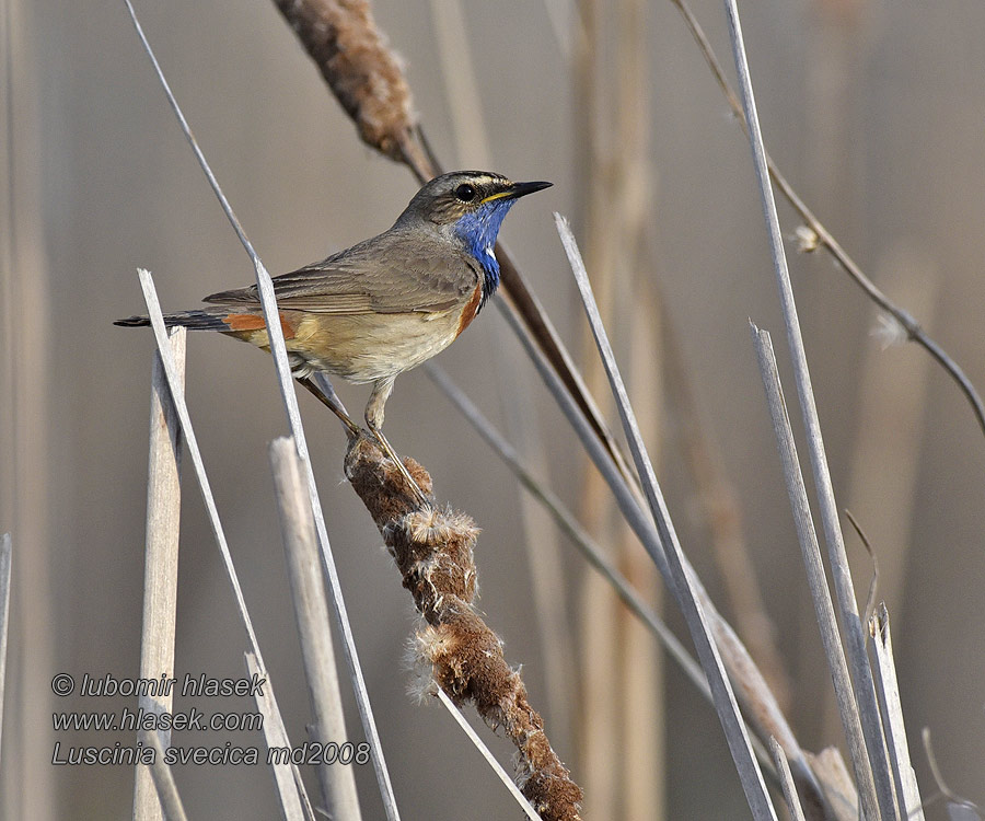
[[[274,277],[274,292],[281,309],[313,313],[428,313],[467,301],[479,276],[475,263],[453,245],[391,230]],[[255,285],[204,301],[259,304]]]

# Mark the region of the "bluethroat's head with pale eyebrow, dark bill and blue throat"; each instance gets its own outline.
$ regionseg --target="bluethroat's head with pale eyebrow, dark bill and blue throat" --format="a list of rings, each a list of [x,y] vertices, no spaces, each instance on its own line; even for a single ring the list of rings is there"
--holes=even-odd
[[[520,197],[552,183],[514,183],[486,171],[453,171],[424,186],[401,215],[401,222],[425,220],[464,243],[483,267],[486,296],[499,285],[493,254],[503,217]]]

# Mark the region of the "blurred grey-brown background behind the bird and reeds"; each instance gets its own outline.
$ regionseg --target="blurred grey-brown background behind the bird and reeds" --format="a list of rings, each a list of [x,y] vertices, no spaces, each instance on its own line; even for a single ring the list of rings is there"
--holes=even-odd
[[[56,741],[131,743],[51,726],[55,709],[128,705],[56,699],[53,675],[132,678],[139,664],[153,340],[112,322],[143,311],[138,266],[153,270],[165,311],[246,285],[253,269],[124,4],[0,8],[0,531],[12,534],[14,567],[0,813],[124,818],[131,768],[50,764]],[[693,8],[731,76],[721,3]],[[607,408],[552,211],[570,217],[685,551],[804,748],[842,745],[750,344],[748,317],[774,332],[791,395],[749,148],[677,10],[642,0],[373,9],[447,167],[555,183],[513,210],[502,239]],[[985,7],[800,0],[742,11],[767,149],[862,268],[985,389]],[[358,141],[273,3],[172,0],[138,13],[271,273],[390,227],[416,184]],[[919,741],[929,727],[949,786],[985,801],[985,438],[924,351],[872,335],[878,312],[823,251],[797,253],[785,204],[780,219],[835,492],[879,559],[923,795],[936,791]],[[499,312],[487,308],[438,362],[662,606],[661,583]],[[361,407],[364,389],[339,390]],[[287,432],[271,362],[189,335],[187,395],[297,741],[310,713],[267,459]],[[310,396],[300,402],[404,816],[515,818],[445,712],[408,696],[412,603],[344,482],[338,424]],[[438,497],[484,529],[479,606],[586,788],[584,817],[748,817],[711,708],[422,372],[397,381],[386,430],[430,470]],[[240,677],[245,636],[188,469],[175,672]],[[872,563],[847,527],[846,537],[864,597]],[[177,699],[175,710],[192,706],[254,709],[233,698]],[[512,748],[482,733],[509,764]],[[186,766],[176,777],[192,818],[278,812],[264,767]],[[358,780],[364,818],[381,818],[371,771]]]

